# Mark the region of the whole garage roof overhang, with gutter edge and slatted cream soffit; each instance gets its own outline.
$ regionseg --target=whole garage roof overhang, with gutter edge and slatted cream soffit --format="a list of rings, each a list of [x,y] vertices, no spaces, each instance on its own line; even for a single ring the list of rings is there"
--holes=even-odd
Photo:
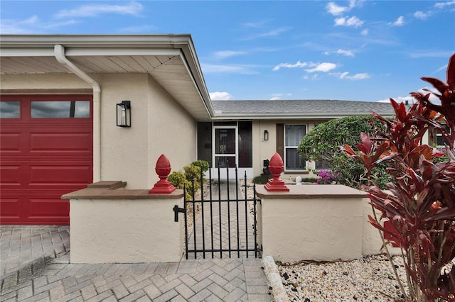
[[[189,35],[2,35],[1,74],[68,74],[54,45],[87,74],[147,73],[191,116],[213,116],[210,97]]]

